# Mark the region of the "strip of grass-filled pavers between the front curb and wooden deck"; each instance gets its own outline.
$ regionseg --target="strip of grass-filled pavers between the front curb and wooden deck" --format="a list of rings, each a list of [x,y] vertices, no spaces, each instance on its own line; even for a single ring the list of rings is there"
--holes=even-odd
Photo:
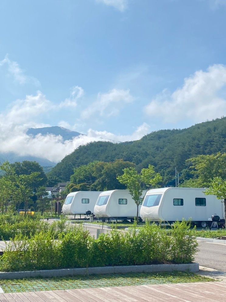
[[[38,290],[66,290],[90,287],[110,287],[183,282],[210,282],[214,279],[188,272],[128,273],[112,275],[86,275],[61,278],[35,278],[0,280],[5,293]]]

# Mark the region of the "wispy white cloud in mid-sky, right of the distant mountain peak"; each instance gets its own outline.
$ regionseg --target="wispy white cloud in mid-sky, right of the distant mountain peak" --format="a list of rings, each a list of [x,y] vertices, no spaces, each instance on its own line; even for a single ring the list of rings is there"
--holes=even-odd
[[[88,119],[91,115],[109,117],[117,115],[120,109],[134,100],[130,90],[112,89],[108,93],[99,93],[97,100],[82,111],[82,119]]]

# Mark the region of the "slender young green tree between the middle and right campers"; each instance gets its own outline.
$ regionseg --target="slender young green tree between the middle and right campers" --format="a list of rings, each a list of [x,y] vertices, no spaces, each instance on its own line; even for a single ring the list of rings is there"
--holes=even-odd
[[[132,199],[137,205],[137,222],[139,213],[139,204],[142,197],[144,186],[156,187],[159,182],[162,181],[162,176],[154,171],[154,166],[148,165],[147,169],[142,169],[138,174],[135,168],[125,168],[124,174],[118,176],[117,179],[120,183],[126,185],[129,190]]]

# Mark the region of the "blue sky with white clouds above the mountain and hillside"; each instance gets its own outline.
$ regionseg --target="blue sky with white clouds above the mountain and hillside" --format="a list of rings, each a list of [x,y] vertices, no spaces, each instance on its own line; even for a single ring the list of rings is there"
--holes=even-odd
[[[225,28],[226,0],[2,0],[2,132],[29,148],[29,126],[122,141],[221,117]]]

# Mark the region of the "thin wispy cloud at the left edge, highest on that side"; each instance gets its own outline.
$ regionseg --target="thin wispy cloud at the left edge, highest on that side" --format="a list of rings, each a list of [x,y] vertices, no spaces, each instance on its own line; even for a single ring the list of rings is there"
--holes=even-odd
[[[19,67],[19,64],[17,62],[11,61],[8,55],[5,55],[5,58],[0,61],[0,67],[3,65],[8,65],[8,73],[13,76],[13,79],[16,83],[33,83],[36,86],[40,86],[40,82],[36,78],[32,76],[26,76],[23,70]]]

